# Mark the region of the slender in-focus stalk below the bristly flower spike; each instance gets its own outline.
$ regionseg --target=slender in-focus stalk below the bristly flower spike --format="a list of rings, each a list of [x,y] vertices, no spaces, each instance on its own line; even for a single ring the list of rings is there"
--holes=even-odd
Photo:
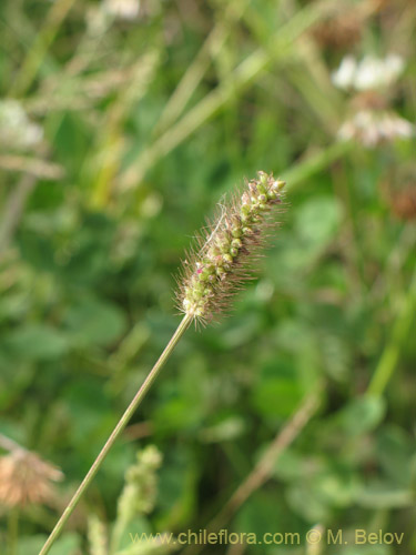
[[[172,337],[171,337],[170,342],[168,343],[168,345],[165,346],[163,353],[159,357],[159,360],[155,363],[155,365],[153,366],[153,369],[148,374],[148,376],[144,380],[142,386],[140,387],[140,390],[135,394],[133,401],[130,403],[130,405],[125,410],[124,414],[119,420],[116,426],[112,431],[110,437],[106,440],[106,442],[105,442],[103,448],[101,450],[100,454],[98,455],[98,457],[93,462],[91,468],[88,471],[85,477],[81,482],[81,484],[80,484],[79,488],[77,490],[77,492],[74,493],[72,500],[69,502],[67,508],[64,509],[64,512],[62,513],[60,519],[55,524],[53,531],[51,532],[50,536],[48,537],[48,539],[47,539],[45,544],[43,545],[42,549],[39,552],[39,555],[45,555],[47,553],[49,553],[50,548],[52,547],[52,544],[54,543],[54,541],[58,538],[58,536],[62,532],[62,528],[65,525],[68,518],[73,513],[73,509],[75,508],[75,506],[78,505],[78,503],[81,500],[82,495],[85,493],[88,486],[91,484],[92,480],[94,478],[95,474],[98,473],[98,471],[99,471],[101,464],[103,463],[106,454],[109,453],[109,451],[113,446],[113,444],[116,441],[116,438],[123,432],[124,427],[126,426],[128,422],[130,421],[131,416],[133,415],[133,413],[135,412],[135,410],[138,408],[138,406],[140,405],[140,403],[143,401],[143,397],[145,396],[145,394],[150,390],[151,385],[153,384],[153,382],[158,377],[158,375],[159,375],[162,366],[164,365],[164,363],[168,361],[168,359],[172,354],[172,351],[174,350],[174,347],[176,346],[176,344],[181,340],[182,335],[187,330],[187,327],[191,324],[192,320],[193,320],[192,315],[185,314],[185,316],[183,317],[183,320],[179,324],[175,333],[172,335]]]

